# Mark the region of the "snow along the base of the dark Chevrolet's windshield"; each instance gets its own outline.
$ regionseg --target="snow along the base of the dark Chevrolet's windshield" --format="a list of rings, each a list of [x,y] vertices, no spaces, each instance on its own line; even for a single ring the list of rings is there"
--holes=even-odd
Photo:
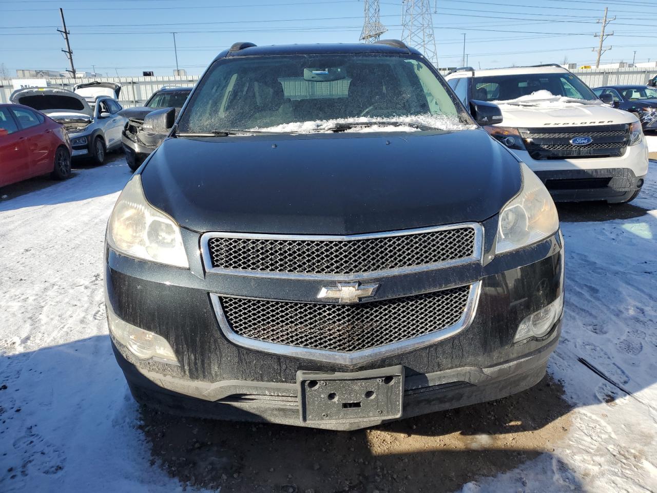
[[[372,125],[379,122],[378,125]],[[356,116],[351,118],[332,118],[330,120],[314,120],[311,122],[291,122],[271,127],[252,128],[251,130],[271,131],[281,133],[315,133],[330,132],[340,124],[367,124],[367,126],[346,129],[347,132],[378,132],[378,131],[418,131],[415,125],[422,125],[444,131],[459,131],[476,128],[476,125],[466,125],[459,121],[458,116],[444,114],[419,114],[395,116],[394,118]],[[394,123],[394,125],[392,125]],[[407,124],[407,125],[405,125]]]

